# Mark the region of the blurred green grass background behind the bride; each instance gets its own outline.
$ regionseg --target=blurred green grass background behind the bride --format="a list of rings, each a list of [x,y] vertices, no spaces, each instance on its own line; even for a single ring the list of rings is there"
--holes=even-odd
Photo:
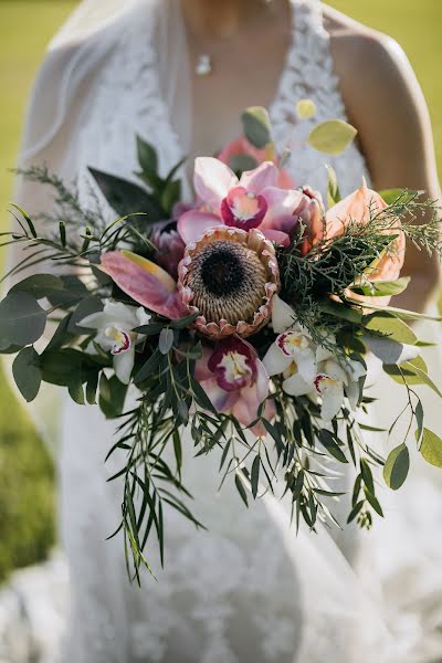
[[[105,0],[97,0],[105,1]],[[123,0],[122,0],[123,1]],[[332,0],[338,10],[387,32],[403,46],[427,96],[442,168],[442,0]],[[0,227],[12,193],[27,96],[45,44],[72,0],[0,0]],[[0,265],[2,257],[0,255]],[[53,469],[0,373],[0,581],[44,558],[54,541]]]

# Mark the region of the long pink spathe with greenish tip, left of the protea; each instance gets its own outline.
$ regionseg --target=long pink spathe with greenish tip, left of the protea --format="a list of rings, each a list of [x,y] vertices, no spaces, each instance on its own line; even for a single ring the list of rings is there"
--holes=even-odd
[[[160,266],[131,251],[109,251],[101,267],[135,302],[171,319],[187,315],[176,281]]]

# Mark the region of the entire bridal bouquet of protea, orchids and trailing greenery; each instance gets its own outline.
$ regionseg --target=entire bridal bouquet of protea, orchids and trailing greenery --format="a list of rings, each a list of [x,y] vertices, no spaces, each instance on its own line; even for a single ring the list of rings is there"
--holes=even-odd
[[[298,113],[309,108],[304,102]],[[387,459],[365,440],[376,430],[366,417],[376,409],[368,352],[408,393],[388,433],[408,417],[407,433],[441,464],[442,441],[424,428],[414,390],[423,383],[442,396],[420,356],[425,344],[406,322],[419,315],[388,305],[409,281],[400,276],[406,239],[441,252],[438,208],[419,192],[378,193],[364,181],[341,199],[332,168],[325,202],[291,180],[290,154],[276,154],[263,108],[248,109],[243,126],[219,158],[196,160],[191,202],[181,200],[181,164],[161,177],[155,148],[138,138],[140,186],[91,169],[85,209],[76,190],[33,168],[23,175],[56,193],[40,220],[48,231],[13,206],[18,227],[3,233],[4,244],[23,248],[9,276],[31,275],[0,303],[0,351],[15,354],[28,401],[44,381],[116,419],[108,455],[122,462],[117,532],[137,578],[151,534],[162,560],[165,504],[200,526],[181,481],[186,428],[194,455],[218,450],[222,481],[231,476],[246,504],[277,481],[296,524],[314,529],[335,519],[336,470],[352,463],[348,520],[369,527],[373,512],[382,516],[372,471],[399,488],[409,434]],[[354,135],[333,120],[308,140],[336,154]],[[119,215],[112,223],[102,194]],[[193,462],[204,472],[204,457]]]

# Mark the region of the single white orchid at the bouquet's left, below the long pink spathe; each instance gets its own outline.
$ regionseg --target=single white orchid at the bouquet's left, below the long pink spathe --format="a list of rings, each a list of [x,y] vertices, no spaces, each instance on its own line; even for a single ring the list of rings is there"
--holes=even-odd
[[[135,362],[135,346],[145,335],[134,332],[147,325],[151,316],[143,306],[127,306],[120,302],[106,302],[103,311],[87,315],[81,320],[82,327],[96,329],[96,343],[114,356],[115,373],[120,382],[128,385]]]

